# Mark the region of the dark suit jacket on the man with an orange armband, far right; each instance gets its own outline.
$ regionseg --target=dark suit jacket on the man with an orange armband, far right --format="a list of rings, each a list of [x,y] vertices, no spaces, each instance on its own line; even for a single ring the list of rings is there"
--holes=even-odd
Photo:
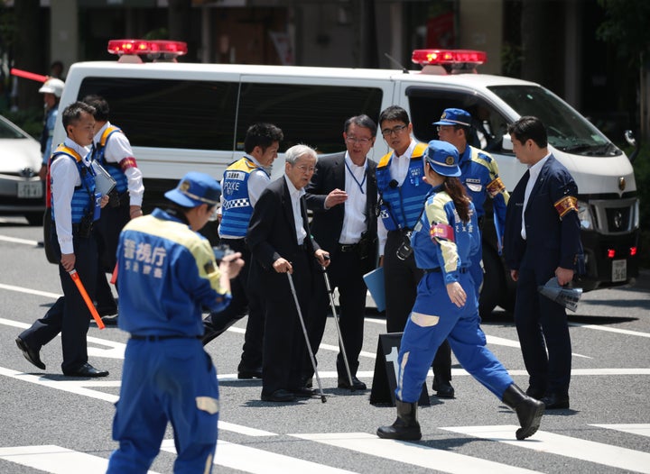
[[[508,201],[504,236],[506,263],[510,269],[531,268],[548,272],[562,267],[580,270],[578,264],[583,256],[577,209],[561,217],[556,207],[567,204],[564,199],[568,196],[577,199],[578,187],[569,170],[552,155],[543,164],[528,197],[524,240],[521,237],[522,208],[528,177],[526,172]],[[546,278],[551,277],[552,272]]]

